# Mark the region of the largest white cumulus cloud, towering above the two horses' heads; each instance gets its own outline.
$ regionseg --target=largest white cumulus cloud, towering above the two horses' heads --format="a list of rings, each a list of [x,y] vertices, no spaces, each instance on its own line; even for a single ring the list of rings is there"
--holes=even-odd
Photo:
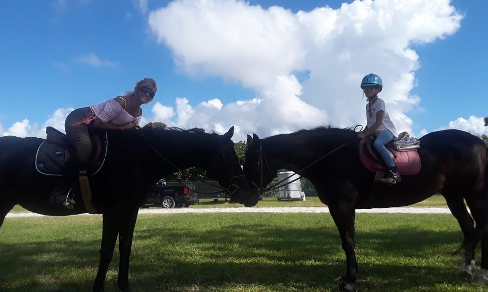
[[[384,81],[380,94],[398,130],[411,131],[409,110],[418,55],[412,44],[455,33],[462,16],[448,0],[356,0],[339,9],[296,14],[241,0],[175,0],[149,14],[158,42],[188,74],[220,76],[255,91],[255,100],[210,107],[177,100],[176,124],[220,131],[239,126],[237,139],[331,124],[365,124],[359,84],[368,73]],[[293,73],[309,72],[300,83]],[[219,125],[219,126],[216,126]]]

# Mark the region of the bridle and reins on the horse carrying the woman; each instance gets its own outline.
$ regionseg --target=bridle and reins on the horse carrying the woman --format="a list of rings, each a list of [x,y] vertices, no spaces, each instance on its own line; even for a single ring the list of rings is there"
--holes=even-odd
[[[172,167],[174,167],[178,171],[182,171],[183,170],[180,167],[178,167],[177,165],[175,165],[172,162],[170,162],[166,157],[164,157],[163,154],[161,154],[161,152],[159,152],[158,149],[156,149],[154,146],[152,146],[152,144],[149,141],[147,141],[147,139],[142,134],[141,134],[141,137],[142,137],[142,140],[144,140],[146,142],[146,144],[154,151],[154,153],[156,153],[167,164],[171,165]],[[224,151],[223,151],[224,150],[224,146],[222,145],[221,137],[219,137],[219,145],[220,145],[220,151],[217,154],[217,158],[215,159],[215,161],[212,164],[210,164],[210,168],[212,168],[217,163],[217,161],[219,160],[219,158],[222,158],[223,161],[224,161],[224,164],[225,164],[225,168],[227,170],[227,175],[229,177],[229,179],[227,181],[225,181],[225,183],[229,182],[229,186],[228,187],[224,187],[224,186],[221,186],[221,185],[215,185],[213,183],[208,183],[208,182],[205,182],[205,181],[203,181],[203,180],[201,180],[199,178],[194,177],[193,179],[195,179],[196,181],[198,181],[200,183],[204,183],[206,185],[210,185],[212,187],[216,187],[216,188],[219,188],[220,189],[217,192],[211,192],[211,193],[198,192],[200,194],[218,194],[218,193],[221,193],[222,191],[226,191],[229,195],[232,195],[232,194],[234,194],[239,189],[239,186],[237,184],[233,183],[233,180],[234,179],[239,179],[239,178],[245,177],[245,174],[242,174],[242,175],[233,175],[232,174],[232,171],[230,169],[230,166],[227,163],[227,160],[225,160],[225,154],[224,154]],[[179,183],[182,184],[181,182],[179,182]]]

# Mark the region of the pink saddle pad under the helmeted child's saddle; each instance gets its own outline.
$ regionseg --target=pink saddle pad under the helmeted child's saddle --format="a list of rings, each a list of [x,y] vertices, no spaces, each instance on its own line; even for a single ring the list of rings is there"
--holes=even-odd
[[[361,140],[359,143],[359,160],[361,160],[361,163],[373,172],[386,170],[386,166],[383,163],[379,164],[369,155],[365,143],[366,139]],[[421,168],[419,153],[417,151],[397,151],[395,164],[400,174],[417,174]]]

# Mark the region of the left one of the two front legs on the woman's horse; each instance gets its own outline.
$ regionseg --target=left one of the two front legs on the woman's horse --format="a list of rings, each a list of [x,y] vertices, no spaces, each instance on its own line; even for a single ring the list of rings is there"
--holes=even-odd
[[[114,208],[115,209],[115,208]],[[114,254],[115,242],[119,234],[119,228],[122,221],[121,212],[110,210],[103,213],[103,231],[102,246],[100,247],[100,264],[98,266],[97,276],[93,283],[93,291],[103,291],[105,277],[107,276],[108,265]]]

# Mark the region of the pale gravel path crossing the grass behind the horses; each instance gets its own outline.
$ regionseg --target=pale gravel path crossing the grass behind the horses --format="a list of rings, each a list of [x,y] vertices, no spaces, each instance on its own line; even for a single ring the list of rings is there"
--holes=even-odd
[[[327,207],[259,207],[259,208],[150,208],[140,209],[139,214],[180,214],[180,213],[329,213]],[[360,209],[356,213],[406,213],[406,214],[450,214],[448,208],[415,208],[415,207],[397,207],[384,209]],[[80,214],[76,216],[86,216],[90,214]],[[8,213],[6,218],[16,217],[41,217],[44,215],[36,213]]]

